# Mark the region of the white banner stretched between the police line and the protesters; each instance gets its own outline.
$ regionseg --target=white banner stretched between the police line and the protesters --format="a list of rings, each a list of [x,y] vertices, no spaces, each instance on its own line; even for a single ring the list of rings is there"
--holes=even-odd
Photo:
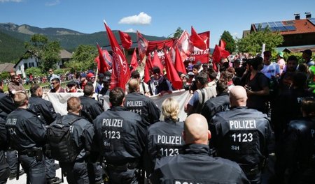
[[[52,102],[55,111],[62,115],[65,115],[68,113],[66,111],[66,100],[68,100],[72,96],[79,97],[81,95],[83,95],[83,93],[46,93],[45,95],[43,95],[43,99]],[[95,97],[97,97],[97,99],[99,99],[99,101],[102,102],[105,110],[109,109],[110,104],[108,95],[105,96],[98,95]],[[185,120],[187,114],[186,112],[184,112],[184,106],[188,99],[190,98],[190,93],[188,91],[185,90],[173,91],[172,94],[166,93],[165,95],[162,96],[154,95],[151,96],[150,98],[155,102],[156,105],[158,105],[159,109],[161,109],[162,102],[166,98],[174,98],[175,100],[177,100],[177,102],[179,102],[179,109],[181,109],[181,111],[179,112],[179,119],[180,121]]]

